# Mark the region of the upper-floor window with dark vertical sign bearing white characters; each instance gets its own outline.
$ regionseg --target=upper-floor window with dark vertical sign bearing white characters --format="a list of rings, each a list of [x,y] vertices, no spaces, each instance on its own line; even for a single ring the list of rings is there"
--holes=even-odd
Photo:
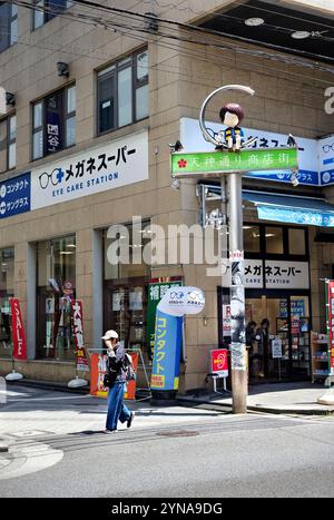
[[[76,86],[58,90],[32,106],[32,159],[76,144]]]

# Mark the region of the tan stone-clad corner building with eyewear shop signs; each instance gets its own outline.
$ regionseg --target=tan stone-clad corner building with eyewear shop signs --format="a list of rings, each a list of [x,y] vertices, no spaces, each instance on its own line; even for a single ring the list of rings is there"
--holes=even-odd
[[[323,279],[333,276],[333,235],[316,220],[259,216],[257,206],[265,196],[263,206],[298,207],[287,199],[299,197],[313,215],[334,199],[331,168],[325,164],[330,177],[321,181],[317,157],[321,149],[334,157],[334,116],[324,108],[325,90],[334,85],[333,57],[328,51],[316,59],[311,48],[303,56],[301,48],[278,43],[275,49],[269,40],[261,46],[256,36],[242,41],[223,29],[219,35],[216,24],[233,16],[229,1],[207,1],[205,11],[202,2],[177,2],[175,9],[153,3],[124,1],[118,11],[110,2],[105,9],[47,1],[32,9],[0,6],[1,87],[11,95],[0,118],[0,373],[11,367],[11,296],[20,300],[26,323],[28,361],[17,364],[27,377],[72,379],[71,298],[82,301],[88,349],[100,349],[102,332],[116,328],[127,346],[141,350],[149,373],[151,305],[157,291],[160,296],[180,281],[206,295],[204,313],[187,318],[180,391],[205,384],[209,351],[228,343],[228,276],[208,275],[206,262],[185,262],[179,254],[170,261],[149,244],[155,226],[167,234],[168,226],[198,224],[198,184],[217,195],[216,183],[205,179],[170,187],[168,144],[180,138],[185,149],[205,149],[196,130],[203,100],[214,88],[240,84],[256,92],[236,96],[247,131],[257,131],[263,147],[281,146],[293,134],[306,163],[297,187],[279,175],[243,180],[246,318],[262,337],[269,323],[267,343],[257,340],[253,375],[310,377],[310,332],[325,332]],[[301,19],[307,12],[317,30],[325,20],[333,27],[330,2],[310,3],[284,8]],[[264,2],[264,18],[271,6]],[[158,18],[134,16],[148,11]],[[207,111],[217,128],[222,101]],[[316,180],[307,177],[312,173]],[[275,195],[285,198],[268,204]],[[215,208],[213,199],[207,207]],[[179,244],[187,233],[179,233]],[[116,264],[115,242],[127,238],[128,262]],[[168,238],[161,241],[168,251]],[[279,365],[269,351],[274,339],[283,342]]]

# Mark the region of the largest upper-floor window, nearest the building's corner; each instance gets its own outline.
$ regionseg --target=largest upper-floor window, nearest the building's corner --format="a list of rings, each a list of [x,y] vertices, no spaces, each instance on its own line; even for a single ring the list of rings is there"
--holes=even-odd
[[[140,50],[98,72],[98,134],[148,116],[148,53]]]

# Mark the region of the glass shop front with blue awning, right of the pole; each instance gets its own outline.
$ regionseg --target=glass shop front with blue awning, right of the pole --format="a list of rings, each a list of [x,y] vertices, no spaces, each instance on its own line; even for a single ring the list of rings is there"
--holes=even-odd
[[[301,219],[303,215],[306,219],[334,219],[334,206],[320,199],[257,192],[244,192],[243,197],[246,210],[247,205],[255,206],[258,216],[267,220],[245,222],[243,226],[249,380],[310,379],[313,327],[310,242],[314,229],[295,225],[294,215],[298,213]],[[277,223],[282,214],[291,225]],[[268,223],[269,219],[275,222]],[[218,290],[220,344],[230,342],[229,283],[227,272]],[[316,284],[321,284],[318,277]],[[320,314],[325,314],[324,305]]]

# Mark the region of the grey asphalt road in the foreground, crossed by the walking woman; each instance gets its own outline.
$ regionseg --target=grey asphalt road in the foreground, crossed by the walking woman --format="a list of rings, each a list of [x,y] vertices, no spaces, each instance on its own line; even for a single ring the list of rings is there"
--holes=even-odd
[[[131,429],[107,436],[105,410],[92,398],[14,389],[0,408],[11,443],[0,497],[334,497],[334,418],[144,402]]]

